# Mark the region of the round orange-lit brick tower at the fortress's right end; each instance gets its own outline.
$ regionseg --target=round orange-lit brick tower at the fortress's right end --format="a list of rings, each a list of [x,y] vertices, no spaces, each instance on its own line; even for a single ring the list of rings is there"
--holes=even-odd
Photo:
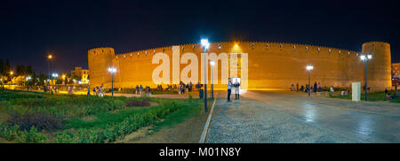
[[[390,89],[392,87],[392,81],[390,78],[390,44],[387,42],[365,42],[363,44],[362,52],[365,55],[372,54],[372,59],[368,62],[367,71],[367,83],[368,86],[371,86],[371,90]],[[364,87],[364,84],[362,87]]]

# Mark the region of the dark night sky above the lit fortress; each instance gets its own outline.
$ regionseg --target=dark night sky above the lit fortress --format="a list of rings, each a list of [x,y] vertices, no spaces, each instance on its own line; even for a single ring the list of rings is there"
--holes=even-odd
[[[396,1],[4,1],[0,58],[47,73],[87,68],[87,50],[116,53],[167,45],[244,40],[294,42],[361,50],[363,42],[391,44],[400,62]]]

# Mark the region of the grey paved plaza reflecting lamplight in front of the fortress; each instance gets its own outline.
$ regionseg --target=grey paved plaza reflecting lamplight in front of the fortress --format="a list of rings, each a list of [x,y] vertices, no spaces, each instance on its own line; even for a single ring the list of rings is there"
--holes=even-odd
[[[206,142],[400,142],[400,105],[285,91],[228,103],[219,93]]]

